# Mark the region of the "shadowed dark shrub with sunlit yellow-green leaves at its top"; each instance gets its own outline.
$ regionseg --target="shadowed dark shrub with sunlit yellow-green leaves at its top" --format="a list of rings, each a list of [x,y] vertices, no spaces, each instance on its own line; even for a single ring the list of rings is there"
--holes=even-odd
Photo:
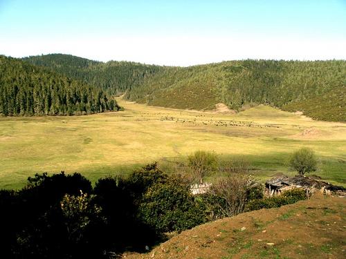
[[[16,258],[102,258],[105,226],[92,195],[66,194],[17,233]]]

